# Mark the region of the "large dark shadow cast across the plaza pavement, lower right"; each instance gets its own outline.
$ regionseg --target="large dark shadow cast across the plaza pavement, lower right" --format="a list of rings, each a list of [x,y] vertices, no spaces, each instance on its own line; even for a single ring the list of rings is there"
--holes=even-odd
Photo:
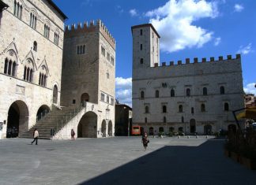
[[[80,184],[256,184],[256,172],[225,157],[223,144],[164,146]]]

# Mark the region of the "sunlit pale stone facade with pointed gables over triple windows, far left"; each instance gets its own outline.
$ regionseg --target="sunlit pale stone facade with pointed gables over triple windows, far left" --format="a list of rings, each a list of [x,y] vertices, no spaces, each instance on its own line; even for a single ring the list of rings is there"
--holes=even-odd
[[[0,19],[0,138],[36,124],[60,104],[66,16],[51,0],[3,0]],[[8,116],[9,115],[9,116]]]

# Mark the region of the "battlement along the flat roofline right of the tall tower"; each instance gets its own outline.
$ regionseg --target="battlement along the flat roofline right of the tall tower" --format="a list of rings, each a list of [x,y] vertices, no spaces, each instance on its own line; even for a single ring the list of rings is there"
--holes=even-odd
[[[167,62],[162,62],[162,65],[158,66],[157,63],[154,64],[154,67],[165,67],[165,66],[172,66],[172,65],[189,65],[189,64],[196,64],[196,63],[205,63],[205,62],[218,62],[218,61],[232,61],[237,60],[241,58],[241,54],[236,54],[234,58],[232,58],[232,55],[227,55],[227,58],[224,59],[223,56],[218,57],[217,60],[215,60],[214,57],[210,57],[209,61],[207,61],[206,57],[203,57],[201,61],[198,61],[198,57],[194,57],[193,62],[190,62],[190,58],[186,58],[185,63],[183,61],[177,61],[175,64],[174,61],[170,61],[170,65],[167,65]]]

